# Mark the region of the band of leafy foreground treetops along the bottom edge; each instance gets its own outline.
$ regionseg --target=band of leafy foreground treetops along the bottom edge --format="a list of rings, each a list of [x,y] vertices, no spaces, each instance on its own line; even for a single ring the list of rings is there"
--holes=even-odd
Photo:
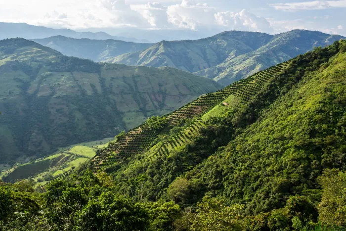
[[[346,172],[326,171],[319,182],[320,192],[286,194],[282,208],[255,216],[246,215],[244,203],[210,196],[188,206],[133,202],[119,194],[110,176],[89,170],[83,177],[54,180],[41,192],[30,181],[0,182],[0,231],[345,230]]]

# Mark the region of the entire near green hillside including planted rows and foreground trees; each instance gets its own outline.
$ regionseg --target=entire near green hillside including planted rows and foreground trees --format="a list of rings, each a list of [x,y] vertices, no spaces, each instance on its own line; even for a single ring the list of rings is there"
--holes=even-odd
[[[345,230],[345,128],[341,40],[149,118],[43,194],[1,183],[0,227]]]

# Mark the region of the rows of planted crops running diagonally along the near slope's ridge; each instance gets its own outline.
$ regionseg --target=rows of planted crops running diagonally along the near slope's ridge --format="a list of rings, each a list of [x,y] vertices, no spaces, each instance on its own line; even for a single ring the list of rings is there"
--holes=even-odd
[[[270,81],[289,67],[285,62],[261,71],[247,79],[238,81],[223,90],[200,96],[191,103],[167,114],[168,126],[163,130],[149,130],[145,126],[130,130],[123,139],[110,142],[103,150],[96,152],[92,159],[94,171],[116,171],[123,163],[146,156],[168,155],[175,148],[188,144],[202,128],[207,126],[213,113],[219,117],[220,110],[226,113],[248,104]],[[217,111],[217,113],[215,113]],[[192,119],[193,118],[193,119]],[[155,140],[178,125],[181,121],[192,119],[191,124],[182,131],[166,137],[164,141]],[[146,153],[146,154],[145,154]],[[150,158],[150,157],[149,157]]]

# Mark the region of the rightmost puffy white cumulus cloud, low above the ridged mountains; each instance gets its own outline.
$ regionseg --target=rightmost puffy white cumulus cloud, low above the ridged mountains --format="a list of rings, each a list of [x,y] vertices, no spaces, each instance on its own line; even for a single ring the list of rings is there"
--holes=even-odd
[[[216,24],[222,25],[230,30],[241,31],[260,31],[271,32],[270,23],[262,17],[243,9],[239,13],[236,12],[217,12],[215,13]]]

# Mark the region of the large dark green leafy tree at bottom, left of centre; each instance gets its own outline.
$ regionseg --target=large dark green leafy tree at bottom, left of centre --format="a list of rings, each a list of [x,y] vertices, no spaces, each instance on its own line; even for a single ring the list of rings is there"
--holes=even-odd
[[[86,170],[73,182],[55,180],[46,185],[44,217],[53,230],[145,230],[148,213],[142,204],[112,190],[105,173]]]

